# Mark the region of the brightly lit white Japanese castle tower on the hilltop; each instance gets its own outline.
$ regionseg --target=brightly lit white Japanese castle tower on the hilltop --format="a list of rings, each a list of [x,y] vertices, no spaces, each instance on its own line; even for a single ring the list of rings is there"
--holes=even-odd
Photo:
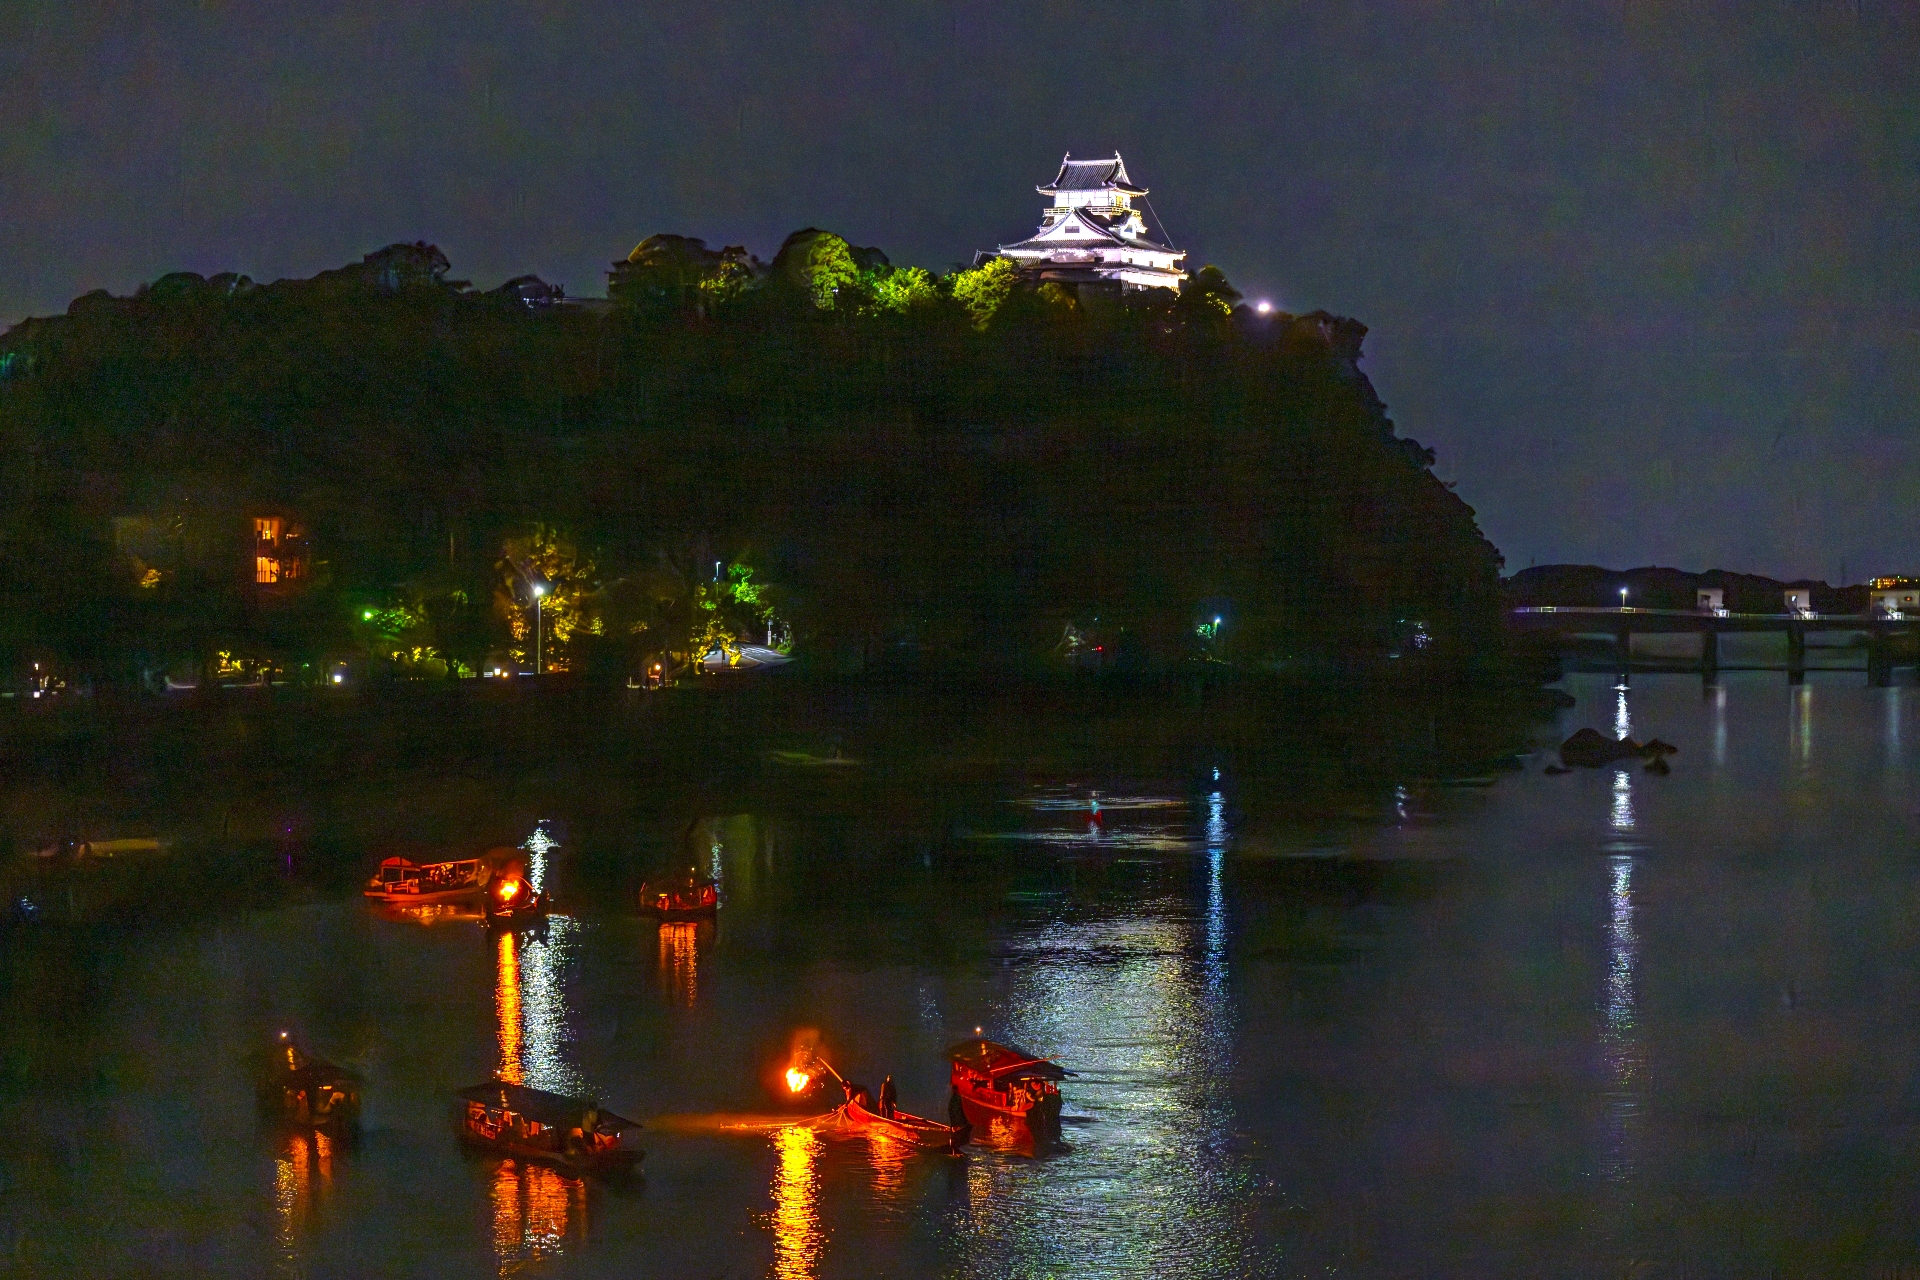
[[[1119,152],[1110,159],[1073,159],[1069,152],[1054,180],[1035,190],[1052,196],[1041,228],[975,261],[1006,257],[1035,282],[1123,290],[1177,290],[1187,278],[1179,267],[1187,253],[1154,240],[1133,207],[1135,200],[1146,198],[1146,188],[1127,177]]]

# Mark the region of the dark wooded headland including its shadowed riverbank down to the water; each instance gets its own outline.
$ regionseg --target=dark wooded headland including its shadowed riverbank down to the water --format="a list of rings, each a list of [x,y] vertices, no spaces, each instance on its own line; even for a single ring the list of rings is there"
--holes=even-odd
[[[0,839],[159,833],[282,900],[564,814],[620,879],[741,796],[937,837],[947,789],[1225,764],[1344,812],[1540,710],[1354,320],[820,230],[655,236],[593,305],[447,274],[173,274],[0,336]],[[695,676],[747,645],[791,662]]]

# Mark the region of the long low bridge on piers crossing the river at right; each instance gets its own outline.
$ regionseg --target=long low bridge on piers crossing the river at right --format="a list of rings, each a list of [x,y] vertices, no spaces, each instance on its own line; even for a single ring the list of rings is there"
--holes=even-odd
[[[1920,618],[1903,614],[1816,614],[1812,610],[1789,614],[1732,614],[1707,608],[1632,608],[1632,606],[1565,606],[1534,604],[1515,608],[1509,624],[1517,631],[1574,635],[1611,635],[1619,651],[1619,670],[1634,668],[1634,635],[1672,635],[1697,633],[1699,674],[1713,679],[1720,670],[1720,637],[1730,633],[1786,633],[1788,637],[1788,681],[1807,679],[1807,633],[1843,631],[1864,635],[1866,643],[1866,683],[1887,687],[1893,683],[1893,641],[1920,633]],[[1647,664],[1642,664],[1647,666]],[[1661,662],[1659,666],[1672,666]],[[1768,668],[1772,670],[1772,668]],[[1832,668],[1828,668],[1832,670]],[[1849,668],[1841,668],[1849,670]],[[1860,668],[1851,668],[1860,670]]]

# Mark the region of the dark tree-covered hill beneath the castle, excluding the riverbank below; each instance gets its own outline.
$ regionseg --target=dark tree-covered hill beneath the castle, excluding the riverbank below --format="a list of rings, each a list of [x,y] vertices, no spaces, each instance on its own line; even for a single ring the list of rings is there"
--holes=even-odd
[[[770,616],[843,670],[1258,668],[1496,626],[1500,557],[1396,438],[1354,320],[1256,317],[1212,269],[1094,297],[824,232],[770,265],[657,236],[612,294],[482,294],[422,244],[15,326],[4,658],[474,668],[528,647],[534,580],[547,664],[580,670]],[[301,532],[298,583],[228,555],[259,512]],[[129,520],[175,551],[117,543]]]

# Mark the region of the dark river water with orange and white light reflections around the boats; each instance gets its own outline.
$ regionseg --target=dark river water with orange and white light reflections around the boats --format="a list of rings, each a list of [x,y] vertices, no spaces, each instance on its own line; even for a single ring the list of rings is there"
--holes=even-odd
[[[568,894],[555,816],[538,873],[580,906],[543,938],[332,900],[102,940],[61,961],[84,1027],[13,1000],[0,1268],[1912,1274],[1920,691],[1565,687],[1542,743],[1661,737],[1672,773],[1540,752],[1302,821],[1200,764],[998,787],[914,837],[720,806],[689,854],[718,929]],[[276,1027],[367,1075],[357,1144],[257,1128]],[[975,1029],[1058,1055],[1064,1146],[755,1119],[801,1029],[937,1117]],[[449,1092],[497,1071],[645,1121],[645,1176],[463,1157]]]

